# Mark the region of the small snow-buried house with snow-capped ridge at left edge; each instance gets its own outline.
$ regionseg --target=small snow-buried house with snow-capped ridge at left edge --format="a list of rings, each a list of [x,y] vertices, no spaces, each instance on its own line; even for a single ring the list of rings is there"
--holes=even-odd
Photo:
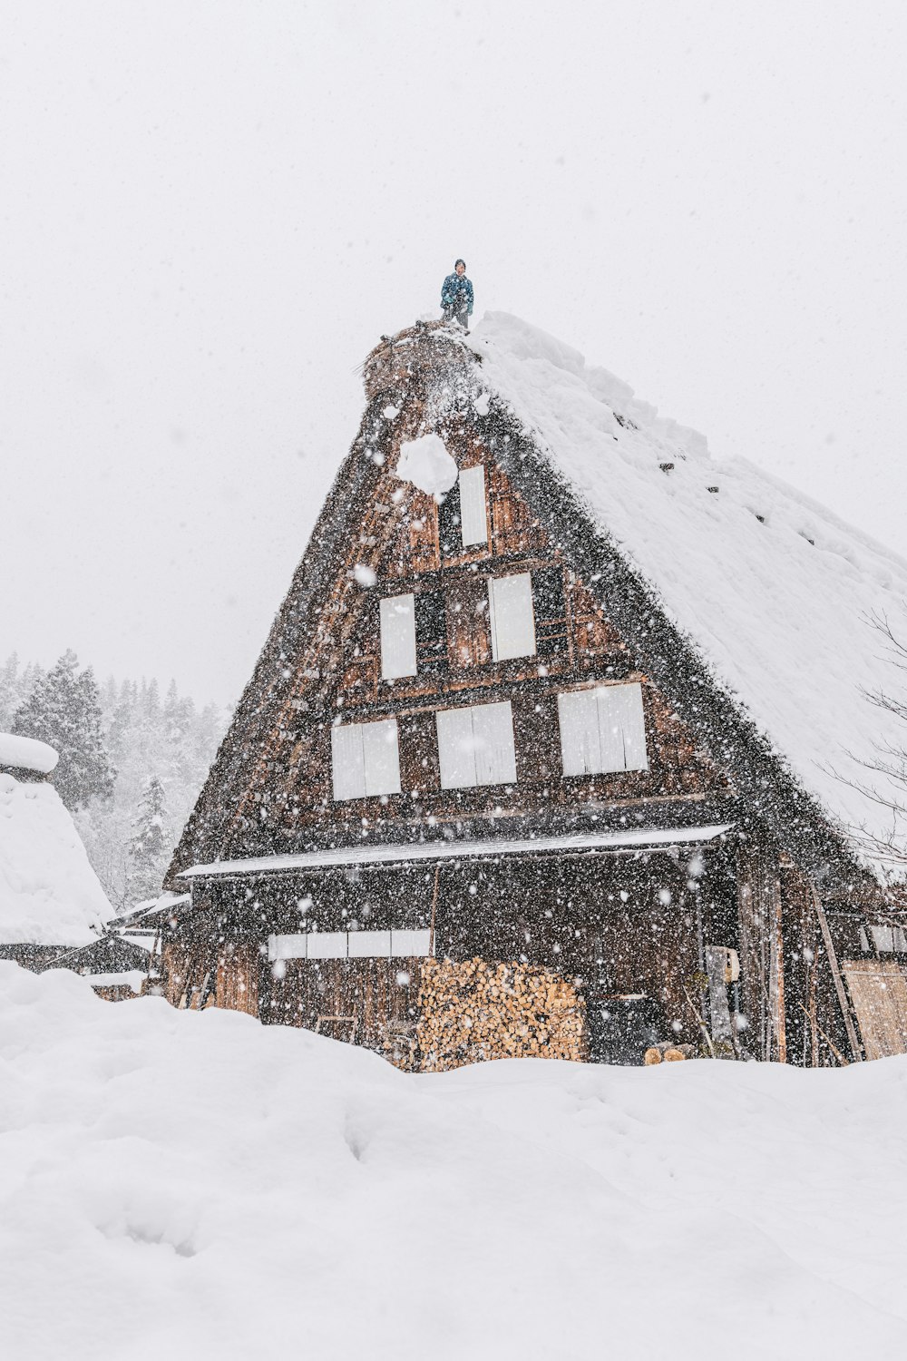
[[[0,958],[41,969],[98,942],[113,916],[60,795],[57,753],[0,734]]]

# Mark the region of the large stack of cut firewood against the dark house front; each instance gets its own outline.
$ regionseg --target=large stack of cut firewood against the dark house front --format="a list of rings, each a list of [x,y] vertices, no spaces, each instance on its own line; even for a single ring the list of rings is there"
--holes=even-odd
[[[443,1072],[488,1059],[585,1057],[585,1003],[572,984],[529,964],[426,960],[416,1066]]]

